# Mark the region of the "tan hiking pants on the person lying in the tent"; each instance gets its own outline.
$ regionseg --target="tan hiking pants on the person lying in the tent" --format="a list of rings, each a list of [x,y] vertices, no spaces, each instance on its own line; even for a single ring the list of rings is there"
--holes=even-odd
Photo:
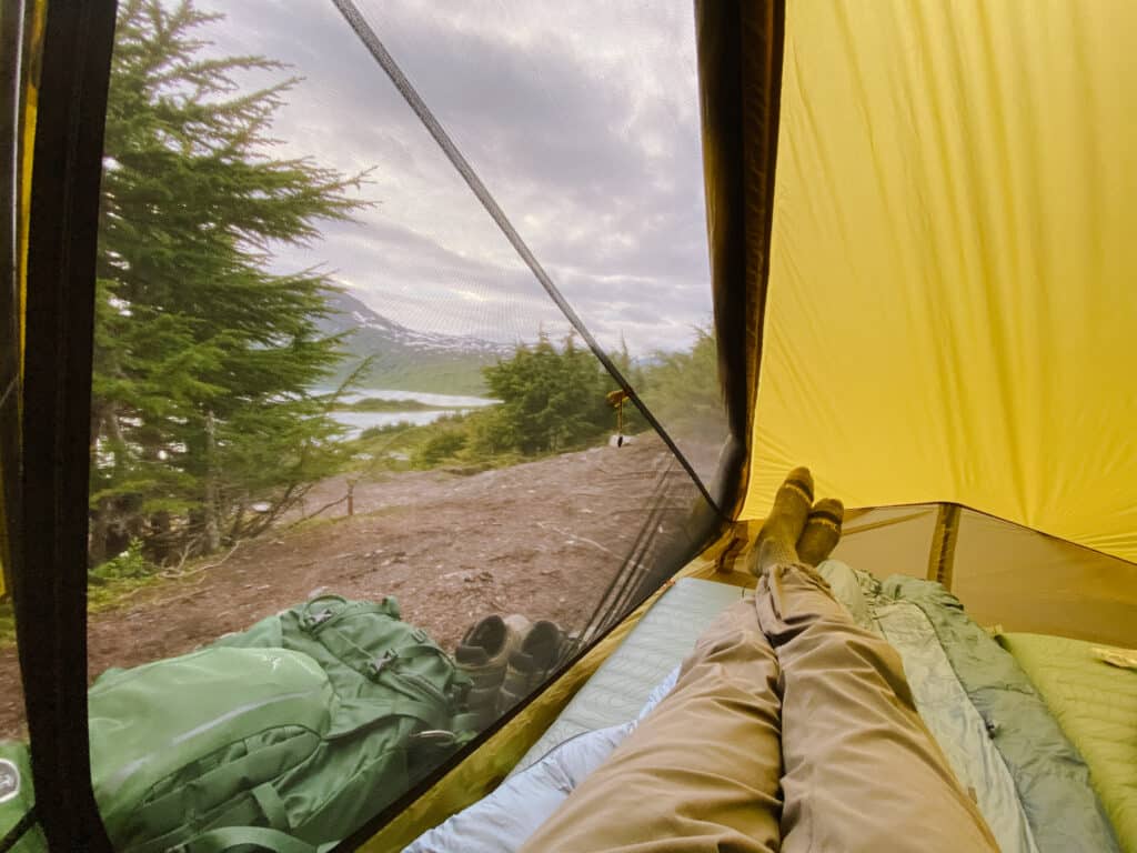
[[[525,853],[997,851],[897,653],[807,566],[723,612]]]

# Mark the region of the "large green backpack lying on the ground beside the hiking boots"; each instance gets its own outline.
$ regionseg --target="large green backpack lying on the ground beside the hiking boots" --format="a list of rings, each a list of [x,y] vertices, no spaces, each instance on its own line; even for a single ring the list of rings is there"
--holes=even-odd
[[[90,690],[94,794],[123,853],[301,853],[473,736],[468,680],[381,604],[316,598]]]

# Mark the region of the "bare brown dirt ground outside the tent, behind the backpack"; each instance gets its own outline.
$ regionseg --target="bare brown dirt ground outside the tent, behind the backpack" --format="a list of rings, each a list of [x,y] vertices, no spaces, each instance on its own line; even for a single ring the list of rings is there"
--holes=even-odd
[[[319,483],[315,508],[347,492]],[[663,494],[656,535],[688,516],[696,492],[657,439],[462,475],[389,474],[359,482],[315,521],[242,543],[219,564],[147,587],[94,614],[89,677],[189,652],[319,593],[380,599],[453,649],[490,613],[581,628]],[[310,511],[309,508],[309,511]],[[0,652],[0,737],[23,728],[14,648]]]

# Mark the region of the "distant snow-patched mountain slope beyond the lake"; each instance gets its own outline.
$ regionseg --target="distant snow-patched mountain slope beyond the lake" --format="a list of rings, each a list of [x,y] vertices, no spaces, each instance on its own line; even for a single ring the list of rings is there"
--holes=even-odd
[[[359,362],[373,357],[364,378],[367,388],[480,396],[485,394],[482,367],[513,355],[506,343],[468,336],[416,332],[377,314],[348,293],[332,293],[334,314],[319,323],[325,334],[347,332],[343,361],[333,381],[346,378]]]

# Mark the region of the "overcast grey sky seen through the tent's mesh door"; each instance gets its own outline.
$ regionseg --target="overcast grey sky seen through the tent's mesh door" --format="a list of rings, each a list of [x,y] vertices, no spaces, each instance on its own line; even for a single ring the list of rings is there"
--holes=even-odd
[[[325,263],[413,329],[532,339],[556,308],[330,0],[199,0],[210,50],[302,76],[282,154],[373,169],[379,204],[287,266]],[[605,346],[690,343],[711,318],[687,2],[362,0],[362,10]]]

